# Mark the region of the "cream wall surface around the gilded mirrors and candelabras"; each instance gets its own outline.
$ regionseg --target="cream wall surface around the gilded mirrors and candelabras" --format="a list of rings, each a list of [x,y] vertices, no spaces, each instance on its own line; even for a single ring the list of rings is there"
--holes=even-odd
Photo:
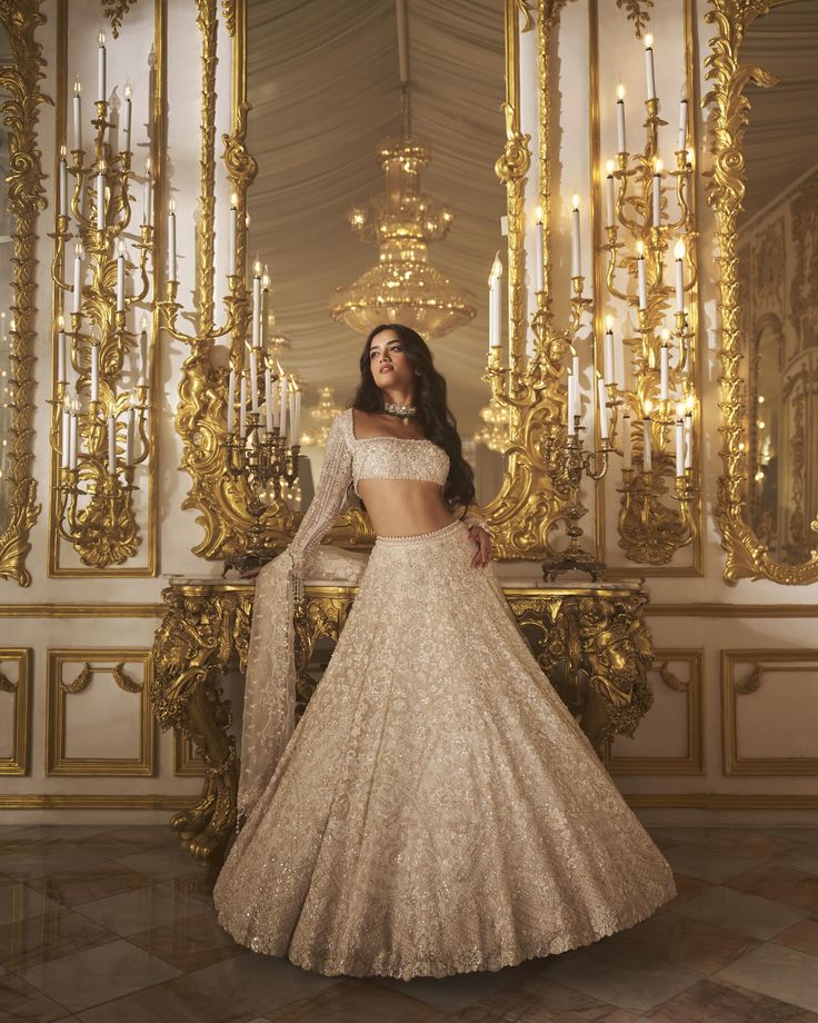
[[[567,197],[576,189],[590,192],[588,110],[590,109],[587,48],[588,3],[575,0],[563,8],[559,40],[557,73],[563,97],[559,110],[560,132],[556,153],[555,213],[565,224]],[[661,97],[668,97],[674,111],[679,95],[679,73],[684,59],[682,0],[662,0],[655,10],[651,29],[657,38],[658,87]],[[707,53],[707,39],[711,31],[704,22],[704,3],[699,3],[695,19],[695,52],[699,58]],[[598,37],[600,41],[600,118],[603,150],[611,137],[610,118],[616,81],[621,76],[628,87],[630,105],[629,131],[636,135],[636,98],[644,93],[644,61],[641,47],[634,38],[632,27],[625,13],[612,2],[599,0]],[[48,59],[47,77],[42,89],[57,95],[54,80],[56,11],[54,0],[43,4],[47,23],[41,39]],[[179,222],[179,250],[187,258],[180,260],[182,286],[180,294],[189,302],[193,288],[191,266],[193,196],[198,177],[200,132],[199,109],[199,36],[194,26],[193,6],[176,2],[168,4],[168,73],[170,180],[177,199]],[[99,7],[91,0],[72,0],[71,41],[69,46],[69,83],[74,69],[96,67],[96,33],[99,29]],[[127,72],[136,90],[142,88],[142,69],[152,39],[152,7],[140,3],[133,7],[126,21],[124,36],[112,41],[109,49],[109,80],[124,78]],[[110,34],[110,33],[109,33]],[[220,40],[219,125],[217,138],[228,130],[228,97],[230,59],[227,40]],[[530,117],[531,90],[536,78],[531,67],[532,48],[526,40],[522,69],[523,111]],[[699,75],[699,91],[705,83]],[[83,82],[92,86],[93,75],[83,75]],[[527,106],[526,106],[527,105]],[[140,136],[139,120],[134,117],[134,137]],[[705,169],[709,157],[704,145],[705,120],[697,115],[698,161]],[[523,125],[523,130],[529,130]],[[54,166],[54,111],[43,107],[40,113],[40,147],[43,168],[52,175]],[[221,151],[220,145],[217,152]],[[602,157],[606,153],[603,151]],[[535,165],[536,166],[536,165]],[[47,182],[48,183],[48,182]],[[221,188],[221,185],[220,185]],[[49,185],[50,193],[50,185]],[[225,205],[221,205],[225,208]],[[668,685],[658,671],[651,675],[655,705],[642,722],[636,738],[617,741],[614,745],[612,769],[622,792],[646,820],[691,820],[717,817],[728,823],[772,818],[786,823],[814,820],[818,808],[818,757],[815,752],[815,726],[818,721],[818,687],[815,661],[804,662],[805,671],[781,673],[777,658],[784,654],[800,655],[808,652],[815,658],[816,624],[811,606],[818,605],[818,587],[788,588],[770,583],[742,580],[728,587],[721,579],[724,556],[711,516],[716,498],[716,484],[721,471],[718,456],[720,437],[718,376],[716,359],[718,346],[715,279],[714,221],[698,195],[701,244],[700,337],[701,405],[702,405],[702,483],[704,509],[704,572],[692,574],[690,556],[682,552],[676,564],[687,567],[688,575],[662,577],[651,575],[647,582],[651,607],[649,624],[658,653],[657,668],[667,659],[669,671],[680,685]],[[31,534],[32,552],[29,566],[33,583],[19,589],[3,583],[2,645],[31,650],[32,702],[30,707],[31,769],[27,776],[4,776],[0,782],[0,806],[13,801],[29,801],[37,805],[39,797],[53,798],[53,808],[0,812],[0,823],[43,820],[167,820],[167,804],[190,797],[200,787],[196,777],[179,776],[174,771],[171,736],[158,734],[156,725],[156,757],[150,773],[117,776],[106,759],[138,756],[137,738],[140,733],[140,697],[122,692],[109,672],[100,672],[83,692],[66,697],[69,732],[64,755],[71,757],[98,756],[101,765],[91,774],[47,774],[47,694],[57,684],[56,672],[61,658],[67,661],[64,678],[73,679],[81,663],[110,666],[124,659],[124,671],[134,681],[144,677],[153,632],[160,622],[161,590],[167,574],[188,576],[218,576],[219,566],[194,557],[191,547],[201,537],[193,512],[180,510],[189,487],[186,475],[178,471],[181,448],[173,428],[177,405],[177,385],[183,345],[163,337],[158,351],[157,428],[159,498],[156,508],[156,528],[160,570],[157,578],[50,578],[47,575],[49,544],[48,467],[47,446],[50,406],[51,357],[49,321],[51,296],[49,286],[51,241],[46,232],[52,229],[52,209],[40,220],[41,241],[38,249],[37,305],[40,334],[38,339],[38,369],[40,385],[37,391],[34,436],[34,466],[39,479],[39,496],[44,508]],[[588,219],[585,219],[586,227]],[[566,236],[555,244],[555,286],[560,296],[568,294],[569,249]],[[591,240],[586,231],[583,264],[590,266]],[[220,274],[223,270],[223,249],[219,249]],[[223,278],[222,278],[223,279]],[[558,300],[557,312],[565,316],[565,300]],[[614,524],[612,481],[607,489],[607,538],[611,563],[622,566],[614,556],[616,535]],[[144,523],[141,524],[144,528]],[[134,564],[141,564],[138,560]],[[631,566],[639,576],[638,566]],[[530,585],[538,575],[537,566],[499,565],[498,572],[507,583]],[[112,605],[124,605],[117,617]],[[116,612],[114,612],[116,613]],[[104,615],[104,616],[102,616]],[[119,652],[126,648],[128,656]],[[59,656],[58,656],[58,652]],[[728,656],[726,652],[740,652]],[[761,654],[758,652],[762,652]],[[757,691],[747,695],[722,697],[722,661],[728,683],[746,683],[757,659],[771,667]],[[794,663],[796,667],[800,662]],[[785,665],[786,666],[786,665]],[[789,665],[790,667],[792,664]],[[16,666],[3,662],[0,671],[16,677]],[[666,676],[669,677],[669,676]],[[238,695],[236,681],[229,692]],[[10,748],[13,727],[12,699],[0,691],[0,757]],[[236,704],[239,711],[239,701]],[[237,714],[238,716],[238,714]],[[725,767],[726,726],[734,727],[737,753]],[[116,737],[116,742],[112,741]],[[146,738],[146,747],[149,743]],[[729,752],[729,751],[728,751]],[[787,773],[792,767],[788,758],[801,757],[796,764],[798,773]],[[143,766],[142,768],[143,769]],[[627,772],[627,773],[626,773]],[[738,773],[741,772],[741,773]],[[750,773],[747,773],[750,772]],[[121,808],[90,808],[99,797],[119,798]],[[70,808],[73,799],[76,808]]]

